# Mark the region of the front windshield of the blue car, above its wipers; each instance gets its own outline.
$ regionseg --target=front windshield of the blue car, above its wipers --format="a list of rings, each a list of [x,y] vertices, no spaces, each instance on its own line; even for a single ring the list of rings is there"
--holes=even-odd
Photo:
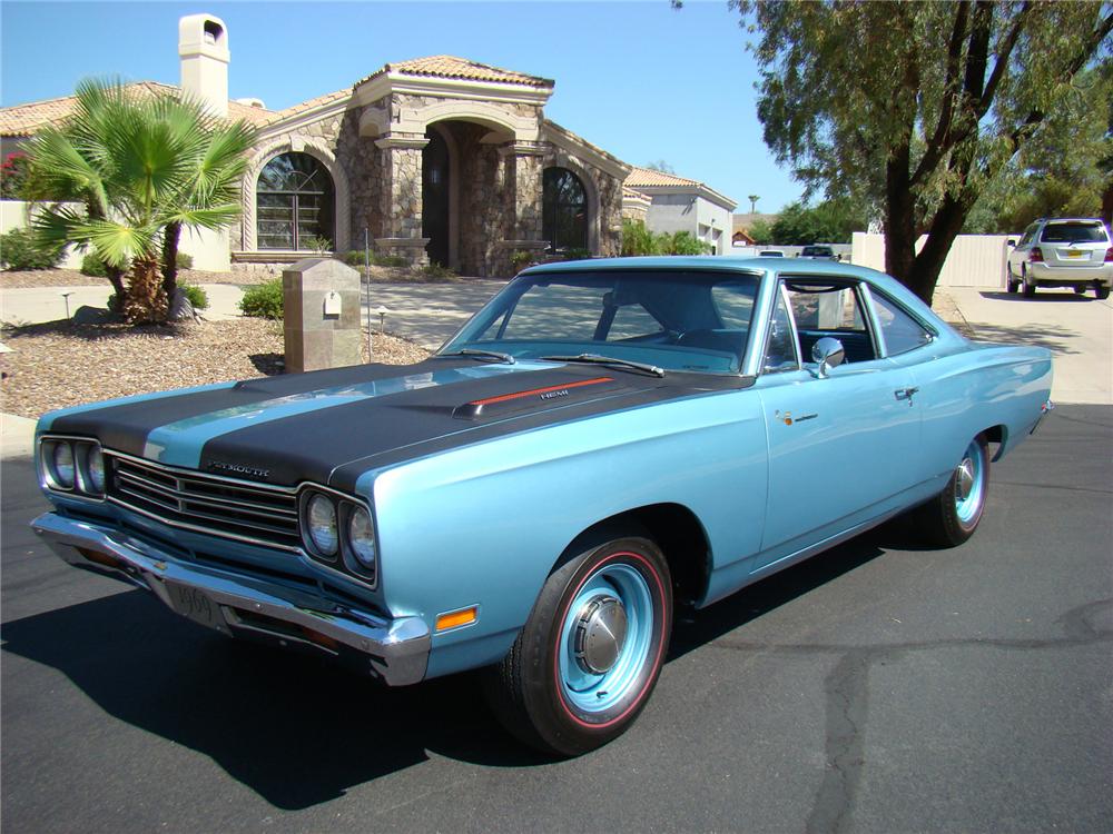
[[[737,374],[757,284],[755,275],[681,269],[522,275],[440,353],[593,354],[664,370]]]

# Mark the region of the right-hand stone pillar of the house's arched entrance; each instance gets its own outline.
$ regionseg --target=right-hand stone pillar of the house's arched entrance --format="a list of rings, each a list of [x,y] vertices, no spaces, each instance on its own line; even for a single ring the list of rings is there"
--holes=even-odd
[[[545,146],[542,142],[508,142],[500,146],[499,153],[503,157],[506,200],[510,203],[510,228],[506,238],[500,241],[504,260],[502,271],[513,275],[518,267],[523,266],[514,262],[516,252],[523,252],[520,258],[538,259],[549,246],[541,238]]]

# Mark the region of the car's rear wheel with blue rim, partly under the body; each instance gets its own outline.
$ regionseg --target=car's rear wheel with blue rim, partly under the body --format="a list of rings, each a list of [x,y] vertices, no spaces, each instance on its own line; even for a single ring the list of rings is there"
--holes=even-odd
[[[955,547],[974,535],[989,492],[989,454],[983,435],[963,453],[942,493],[914,512],[920,535],[943,547]]]

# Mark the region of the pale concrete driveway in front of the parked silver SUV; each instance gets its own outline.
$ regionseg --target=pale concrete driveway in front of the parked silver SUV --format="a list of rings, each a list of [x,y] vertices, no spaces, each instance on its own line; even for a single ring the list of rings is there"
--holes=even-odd
[[[1113,301],[1071,289],[1035,298],[985,287],[947,287],[983,341],[1038,345],[1055,355],[1056,403],[1113,405]]]

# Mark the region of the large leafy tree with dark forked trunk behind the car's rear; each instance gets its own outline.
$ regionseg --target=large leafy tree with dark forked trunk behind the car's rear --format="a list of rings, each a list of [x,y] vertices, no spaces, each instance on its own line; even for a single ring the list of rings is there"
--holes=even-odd
[[[1107,1],[731,6],[767,145],[809,193],[871,205],[887,271],[927,301],[978,196],[1111,53]]]

